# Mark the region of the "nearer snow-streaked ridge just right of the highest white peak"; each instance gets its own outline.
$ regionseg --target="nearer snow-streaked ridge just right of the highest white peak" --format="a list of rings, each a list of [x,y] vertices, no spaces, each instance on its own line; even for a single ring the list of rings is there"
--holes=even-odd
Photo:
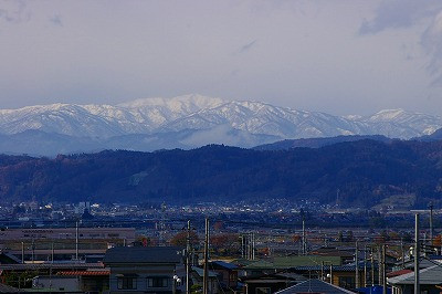
[[[252,134],[282,138],[324,137],[369,132],[357,122],[323,113],[302,112],[260,102],[229,102],[167,124],[165,129],[229,125]]]

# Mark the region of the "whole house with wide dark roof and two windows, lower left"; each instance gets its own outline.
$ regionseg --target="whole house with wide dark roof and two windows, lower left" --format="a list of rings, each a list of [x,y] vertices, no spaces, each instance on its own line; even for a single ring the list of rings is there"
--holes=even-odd
[[[112,248],[103,263],[110,270],[110,293],[172,293],[186,287],[179,248]]]

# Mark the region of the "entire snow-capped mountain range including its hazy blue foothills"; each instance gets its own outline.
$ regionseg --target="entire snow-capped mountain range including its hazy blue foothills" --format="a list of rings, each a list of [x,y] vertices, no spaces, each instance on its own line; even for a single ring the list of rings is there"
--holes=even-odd
[[[32,140],[43,137],[45,141],[54,140],[52,145],[45,144],[51,151],[71,153],[105,148],[192,148],[211,143],[251,147],[287,138],[338,135],[407,139],[430,135],[441,127],[440,116],[403,109],[343,117],[261,102],[183,95],[118,105],[52,104],[0,109],[0,151],[39,154],[41,150],[27,151],[6,145],[29,138],[25,145],[32,146]],[[62,138],[69,144],[60,143]],[[52,150],[51,146],[57,144],[66,146]]]

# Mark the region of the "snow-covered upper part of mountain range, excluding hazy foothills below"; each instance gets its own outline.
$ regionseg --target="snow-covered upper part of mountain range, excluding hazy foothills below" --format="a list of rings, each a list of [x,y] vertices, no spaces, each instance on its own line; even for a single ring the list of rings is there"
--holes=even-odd
[[[253,134],[281,139],[348,134],[410,138],[442,127],[442,118],[403,109],[385,109],[367,117],[341,117],[256,101],[227,101],[198,94],[141,98],[118,105],[59,103],[0,109],[2,134],[39,129],[106,138],[128,134],[200,132],[221,125],[240,132],[238,134],[242,136]]]

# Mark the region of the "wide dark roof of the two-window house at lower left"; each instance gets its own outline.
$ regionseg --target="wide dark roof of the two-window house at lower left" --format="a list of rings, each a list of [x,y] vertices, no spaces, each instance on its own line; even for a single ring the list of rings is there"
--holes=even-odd
[[[118,246],[106,251],[103,263],[180,263],[182,252],[175,246]]]

